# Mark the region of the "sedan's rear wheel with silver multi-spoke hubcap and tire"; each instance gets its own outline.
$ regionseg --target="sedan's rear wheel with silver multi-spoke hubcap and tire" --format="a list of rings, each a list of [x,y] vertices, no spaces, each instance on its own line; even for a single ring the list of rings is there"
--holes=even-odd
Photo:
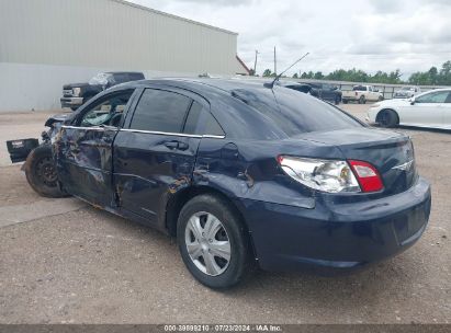
[[[184,264],[203,285],[226,289],[251,271],[246,229],[235,209],[215,195],[200,195],[182,208],[177,241]]]

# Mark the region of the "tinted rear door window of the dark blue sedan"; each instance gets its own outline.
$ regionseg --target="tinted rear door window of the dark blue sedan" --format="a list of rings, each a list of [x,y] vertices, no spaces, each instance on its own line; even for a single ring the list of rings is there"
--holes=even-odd
[[[176,92],[146,89],[135,108],[131,128],[182,133],[192,100]]]

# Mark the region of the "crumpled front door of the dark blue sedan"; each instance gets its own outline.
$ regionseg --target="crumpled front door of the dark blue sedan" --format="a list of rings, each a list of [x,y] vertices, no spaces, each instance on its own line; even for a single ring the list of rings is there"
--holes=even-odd
[[[55,141],[57,172],[69,194],[102,207],[112,204],[112,145],[133,93],[100,97],[61,127]]]

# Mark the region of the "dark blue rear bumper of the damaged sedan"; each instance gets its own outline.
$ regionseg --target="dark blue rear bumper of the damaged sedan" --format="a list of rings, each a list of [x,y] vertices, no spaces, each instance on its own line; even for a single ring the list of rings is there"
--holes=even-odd
[[[342,271],[414,244],[426,229],[431,194],[429,184],[419,179],[402,194],[364,203],[317,202],[314,209],[249,199],[240,204],[261,268]]]

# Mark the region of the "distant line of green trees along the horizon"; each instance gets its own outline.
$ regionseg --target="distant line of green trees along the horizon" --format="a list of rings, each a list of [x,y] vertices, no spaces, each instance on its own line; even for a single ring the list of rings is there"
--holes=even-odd
[[[263,77],[275,77],[270,69],[263,71]],[[407,80],[401,79],[399,69],[391,72],[377,71],[374,74],[367,73],[360,69],[337,69],[328,74],[320,71],[303,72],[301,76],[293,74],[293,79],[315,79],[348,82],[368,82],[368,83],[386,83],[386,84],[416,84],[416,85],[451,85],[451,60],[444,62],[440,69],[431,67],[428,71],[414,72]]]

